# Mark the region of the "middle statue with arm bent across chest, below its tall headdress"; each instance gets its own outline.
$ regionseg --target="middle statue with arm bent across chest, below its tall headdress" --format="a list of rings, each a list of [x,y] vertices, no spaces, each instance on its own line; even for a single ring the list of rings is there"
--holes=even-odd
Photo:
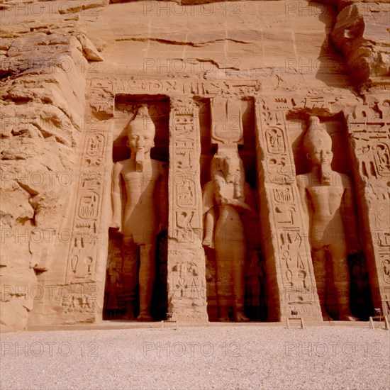
[[[249,321],[244,314],[247,243],[240,213],[252,211],[250,202],[251,189],[245,183],[237,145],[220,145],[211,160],[211,181],[204,186],[203,193],[203,243],[216,250],[218,321],[229,321],[230,296],[235,321]]]

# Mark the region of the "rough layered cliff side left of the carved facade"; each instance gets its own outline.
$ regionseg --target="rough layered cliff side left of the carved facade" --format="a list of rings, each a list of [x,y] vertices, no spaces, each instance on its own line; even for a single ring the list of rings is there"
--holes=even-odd
[[[54,5],[1,10],[1,325],[14,330],[40,295],[84,128],[87,38]]]

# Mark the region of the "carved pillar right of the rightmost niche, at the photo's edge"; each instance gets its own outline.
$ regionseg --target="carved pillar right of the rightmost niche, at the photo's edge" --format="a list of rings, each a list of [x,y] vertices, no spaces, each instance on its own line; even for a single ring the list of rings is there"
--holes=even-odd
[[[386,97],[388,99],[388,97]],[[386,108],[386,104],[383,105]],[[387,111],[358,106],[347,116],[355,151],[357,199],[366,230],[365,243],[375,308],[390,314],[390,120]]]

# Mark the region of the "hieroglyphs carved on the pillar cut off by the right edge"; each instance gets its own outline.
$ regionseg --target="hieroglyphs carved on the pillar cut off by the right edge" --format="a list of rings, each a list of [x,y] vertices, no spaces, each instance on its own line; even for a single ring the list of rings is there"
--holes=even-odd
[[[390,296],[390,118],[378,106],[360,105],[347,117],[348,130],[355,147],[358,174],[369,203],[369,230],[378,272],[380,300]]]

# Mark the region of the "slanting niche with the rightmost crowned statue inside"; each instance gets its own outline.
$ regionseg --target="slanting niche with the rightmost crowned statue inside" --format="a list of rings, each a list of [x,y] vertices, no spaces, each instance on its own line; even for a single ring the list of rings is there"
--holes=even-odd
[[[323,319],[367,320],[372,297],[341,119],[308,116],[289,136]]]

